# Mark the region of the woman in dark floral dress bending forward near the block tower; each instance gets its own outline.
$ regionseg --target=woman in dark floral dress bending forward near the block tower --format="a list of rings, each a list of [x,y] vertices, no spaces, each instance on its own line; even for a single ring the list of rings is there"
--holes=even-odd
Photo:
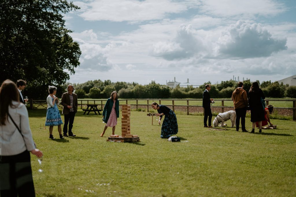
[[[160,124],[163,115],[165,116],[161,126],[161,138],[169,138],[178,133],[178,123],[176,114],[165,105],[158,105],[156,102],[151,104],[153,109],[157,110],[156,116],[159,116],[158,124]]]

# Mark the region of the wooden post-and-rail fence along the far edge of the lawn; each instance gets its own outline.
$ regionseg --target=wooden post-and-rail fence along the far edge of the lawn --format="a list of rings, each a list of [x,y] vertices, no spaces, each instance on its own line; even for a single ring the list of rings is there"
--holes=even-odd
[[[147,101],[147,104],[139,104],[139,101]],[[126,99],[126,100],[119,100],[120,103],[126,102],[125,104],[134,105],[136,106],[136,109],[138,110],[139,106],[147,106],[147,112],[149,111],[149,108],[151,108],[151,101],[158,101],[158,104],[161,104],[161,101],[171,101],[171,106],[173,111],[175,111],[175,107],[186,107],[187,108],[187,115],[189,115],[189,107],[202,107],[202,105],[189,105],[190,101],[202,101],[202,99]],[[78,100],[78,106],[82,109],[84,105],[86,104],[97,104],[101,106],[101,109],[103,109],[103,106],[107,100]],[[130,104],[129,101],[136,101],[136,104]],[[175,101],[186,101],[187,105],[175,105]],[[216,106],[217,101],[221,101],[221,106]],[[231,101],[231,99],[215,99],[215,105],[212,105],[212,108],[221,108],[222,112],[224,112],[224,108],[234,108],[233,106],[224,106],[224,101]],[[289,109],[293,110],[293,120],[296,120],[296,99],[265,99],[266,105],[269,105],[269,101],[283,101],[283,102],[293,102],[293,107],[274,107],[274,109]],[[33,100],[30,99],[30,109],[34,108],[47,108],[46,100]],[[59,108],[62,108],[62,105],[58,106]]]

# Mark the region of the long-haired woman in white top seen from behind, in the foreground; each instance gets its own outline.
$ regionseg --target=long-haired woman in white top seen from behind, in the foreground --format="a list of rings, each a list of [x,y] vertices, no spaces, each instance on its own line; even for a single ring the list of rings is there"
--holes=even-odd
[[[13,81],[0,87],[0,196],[35,196],[29,151],[37,157],[27,108]]]

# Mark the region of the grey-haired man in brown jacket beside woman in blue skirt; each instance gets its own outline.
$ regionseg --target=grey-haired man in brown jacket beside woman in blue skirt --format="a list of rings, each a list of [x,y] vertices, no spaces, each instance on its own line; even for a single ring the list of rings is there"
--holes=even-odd
[[[76,136],[72,132],[73,122],[75,118],[75,114],[77,112],[78,107],[78,101],[77,101],[77,95],[73,93],[74,86],[72,84],[68,85],[68,92],[65,92],[62,95],[61,104],[63,107],[63,114],[64,114],[64,127],[63,127],[63,133],[64,137],[68,136]],[[68,123],[69,123],[69,135],[67,135],[68,132]]]

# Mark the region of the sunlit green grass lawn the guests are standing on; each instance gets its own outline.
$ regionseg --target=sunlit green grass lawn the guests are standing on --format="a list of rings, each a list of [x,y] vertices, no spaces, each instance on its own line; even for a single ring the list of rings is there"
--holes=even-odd
[[[36,196],[295,196],[295,121],[273,120],[259,134],[234,128],[208,131],[203,116],[177,114],[181,142],[160,138],[145,112],[131,112],[136,143],[99,137],[102,116],[75,116],[76,137],[49,140],[46,110],[29,110],[33,138],[44,153],[42,170],[31,156]],[[121,113],[120,113],[121,114]],[[64,118],[62,116],[62,118]],[[226,122],[227,124],[230,121]],[[251,131],[250,118],[246,119]],[[115,134],[121,134],[121,119]]]

